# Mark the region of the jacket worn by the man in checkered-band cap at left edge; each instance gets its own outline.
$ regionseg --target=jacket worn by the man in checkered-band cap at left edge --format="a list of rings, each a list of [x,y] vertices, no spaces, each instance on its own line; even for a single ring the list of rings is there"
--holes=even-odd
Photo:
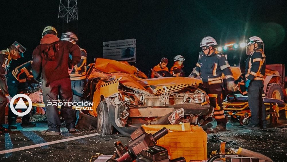
[[[11,60],[9,49],[0,51],[0,93],[5,96],[9,96],[6,73]]]

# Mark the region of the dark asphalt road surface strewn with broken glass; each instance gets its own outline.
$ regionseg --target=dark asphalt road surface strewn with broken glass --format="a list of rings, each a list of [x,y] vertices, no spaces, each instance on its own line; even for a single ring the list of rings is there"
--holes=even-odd
[[[237,122],[230,122],[229,131],[208,134],[208,152],[219,149],[223,140],[227,142],[226,148],[243,147],[262,153],[274,162],[286,162],[287,126],[284,124],[287,120],[282,119],[280,123],[283,125],[265,130],[247,130]],[[65,128],[61,128],[61,136],[43,136],[40,131],[47,129],[46,122],[38,122],[33,128],[21,128],[20,124],[18,127],[16,131],[0,134],[1,161],[94,161],[97,153],[114,154],[114,142],[127,144],[130,139],[121,134],[101,136],[94,130],[70,134]],[[3,153],[10,149],[13,152]]]

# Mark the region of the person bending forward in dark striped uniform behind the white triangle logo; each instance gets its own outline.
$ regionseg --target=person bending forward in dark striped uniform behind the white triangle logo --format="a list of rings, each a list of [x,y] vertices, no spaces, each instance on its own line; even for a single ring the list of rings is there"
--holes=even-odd
[[[36,83],[32,75],[32,60],[25,62],[24,64],[16,67],[11,73],[7,74],[7,85],[9,95],[11,97],[19,93],[19,91],[27,89],[32,83]],[[16,126],[17,115],[15,115],[11,108],[8,113],[8,125],[9,129],[17,129]],[[22,117],[21,126],[34,127],[36,123],[32,123],[30,120],[30,113]]]

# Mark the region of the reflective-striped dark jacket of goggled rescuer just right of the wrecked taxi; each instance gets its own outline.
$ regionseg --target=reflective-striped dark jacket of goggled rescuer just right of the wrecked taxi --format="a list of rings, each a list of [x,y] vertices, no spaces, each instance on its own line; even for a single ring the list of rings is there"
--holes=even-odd
[[[216,84],[222,83],[222,73],[225,75],[226,81],[234,81],[230,65],[225,56],[215,51],[210,56],[201,52],[196,63],[196,68],[192,71],[191,75],[195,77],[200,76],[202,81],[208,82],[208,84]]]

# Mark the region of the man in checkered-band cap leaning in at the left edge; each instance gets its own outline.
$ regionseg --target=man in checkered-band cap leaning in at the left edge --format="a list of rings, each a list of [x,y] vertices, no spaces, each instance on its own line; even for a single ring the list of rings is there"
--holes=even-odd
[[[3,124],[5,124],[5,107],[12,99],[8,92],[6,79],[9,63],[11,60],[17,60],[18,58],[23,57],[25,51],[26,48],[17,41],[10,45],[6,50],[0,51],[0,133],[9,131],[9,129],[3,127]]]

